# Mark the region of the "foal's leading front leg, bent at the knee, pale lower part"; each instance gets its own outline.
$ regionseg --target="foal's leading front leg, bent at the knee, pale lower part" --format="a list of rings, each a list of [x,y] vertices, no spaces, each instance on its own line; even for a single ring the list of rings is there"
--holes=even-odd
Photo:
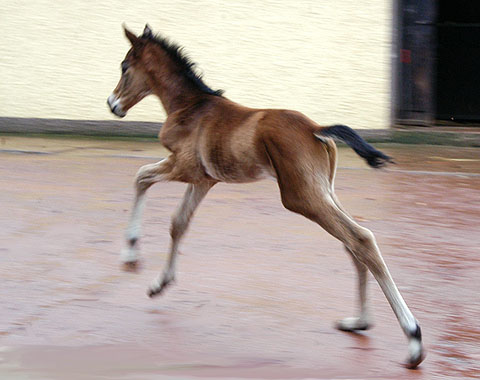
[[[137,172],[135,200],[126,233],[127,247],[121,254],[121,261],[129,267],[134,267],[138,260],[138,239],[146,192],[154,183],[168,180],[173,163],[174,158],[170,156],[157,163],[144,165]]]

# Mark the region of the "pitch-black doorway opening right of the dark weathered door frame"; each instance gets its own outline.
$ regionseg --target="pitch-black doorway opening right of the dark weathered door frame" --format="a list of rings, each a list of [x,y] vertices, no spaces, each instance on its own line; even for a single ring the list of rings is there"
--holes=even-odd
[[[440,0],[436,119],[480,121],[480,2]]]

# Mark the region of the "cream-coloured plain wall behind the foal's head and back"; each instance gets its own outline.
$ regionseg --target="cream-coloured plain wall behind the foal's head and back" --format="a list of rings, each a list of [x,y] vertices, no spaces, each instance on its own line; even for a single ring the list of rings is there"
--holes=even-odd
[[[149,22],[234,101],[386,128],[390,19],[384,0],[0,0],[0,116],[112,119],[121,23]],[[150,97],[125,120],[163,119]]]

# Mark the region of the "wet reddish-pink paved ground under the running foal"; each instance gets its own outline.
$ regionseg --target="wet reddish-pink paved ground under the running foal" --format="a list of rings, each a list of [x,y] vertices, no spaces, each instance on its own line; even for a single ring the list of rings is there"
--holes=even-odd
[[[336,189],[371,229],[427,349],[407,344],[370,277],[375,326],[336,331],[355,314],[342,245],[286,211],[273,180],[219,184],[181,246],[177,282],[160,273],[184,184],[148,195],[142,265],[118,261],[137,169],[157,143],[0,137],[0,378],[480,378],[480,149],[380,146],[369,169],[340,149]]]

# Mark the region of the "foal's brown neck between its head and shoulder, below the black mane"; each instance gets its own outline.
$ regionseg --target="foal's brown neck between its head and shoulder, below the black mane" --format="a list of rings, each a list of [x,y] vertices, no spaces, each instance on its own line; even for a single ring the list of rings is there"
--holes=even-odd
[[[151,45],[145,60],[152,93],[160,98],[167,115],[192,106],[205,96],[160,46]]]

